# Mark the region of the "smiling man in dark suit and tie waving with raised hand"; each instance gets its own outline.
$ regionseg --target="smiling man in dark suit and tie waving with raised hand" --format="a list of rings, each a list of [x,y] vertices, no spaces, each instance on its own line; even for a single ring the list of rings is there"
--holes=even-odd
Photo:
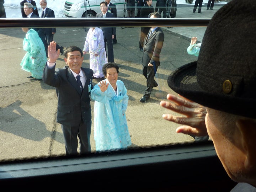
[[[58,96],[57,122],[61,124],[66,155],[90,153],[91,105],[90,92],[93,70],[83,68],[82,50],[76,46],[67,47],[64,61],[68,66],[55,69],[60,50],[56,42],[48,47],[49,60],[43,70],[42,79],[47,85],[55,87]]]

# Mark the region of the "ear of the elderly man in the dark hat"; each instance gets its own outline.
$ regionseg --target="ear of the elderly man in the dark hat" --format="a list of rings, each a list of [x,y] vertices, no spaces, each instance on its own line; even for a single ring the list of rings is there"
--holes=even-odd
[[[239,119],[236,125],[240,130],[241,145],[246,155],[244,167],[248,171],[256,172],[256,122],[250,119]]]

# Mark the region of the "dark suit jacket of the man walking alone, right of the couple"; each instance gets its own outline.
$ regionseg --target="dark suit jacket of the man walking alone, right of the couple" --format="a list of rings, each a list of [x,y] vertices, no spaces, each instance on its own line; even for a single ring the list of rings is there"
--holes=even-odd
[[[160,53],[164,44],[164,33],[162,32],[161,28],[158,27],[150,35],[149,39],[148,35],[146,36],[144,41],[142,65],[148,66],[148,63],[151,63],[153,65],[159,66]]]

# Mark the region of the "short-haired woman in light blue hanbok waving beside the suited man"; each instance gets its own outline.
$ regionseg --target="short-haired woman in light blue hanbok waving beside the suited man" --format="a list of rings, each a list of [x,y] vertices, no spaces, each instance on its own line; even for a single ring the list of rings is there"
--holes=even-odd
[[[128,106],[127,89],[118,80],[119,67],[107,63],[102,68],[105,80],[91,90],[94,102],[94,140],[96,151],[127,149],[131,145],[126,120]]]

